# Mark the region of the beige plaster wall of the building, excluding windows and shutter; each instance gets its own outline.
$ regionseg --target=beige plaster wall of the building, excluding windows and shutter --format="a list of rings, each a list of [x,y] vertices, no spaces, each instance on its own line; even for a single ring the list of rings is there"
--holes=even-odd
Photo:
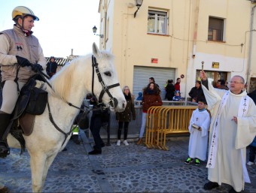
[[[206,70],[227,71],[228,77],[240,74],[246,78],[251,2],[145,0],[136,18],[133,14],[137,8],[133,4],[133,0],[101,0],[99,5],[101,31],[108,34],[100,40],[101,49],[114,53],[121,86],[133,88],[134,65],[175,68],[176,77],[185,75],[181,80],[181,95],[187,95],[194,86],[196,70],[201,68],[202,61]],[[167,11],[168,35],[147,34],[149,9]],[[225,42],[207,41],[209,16],[225,19]],[[158,59],[158,63],[152,64],[151,58]],[[255,64],[255,58],[251,61]],[[212,62],[219,62],[220,68],[212,68]],[[255,68],[251,71],[255,72]]]

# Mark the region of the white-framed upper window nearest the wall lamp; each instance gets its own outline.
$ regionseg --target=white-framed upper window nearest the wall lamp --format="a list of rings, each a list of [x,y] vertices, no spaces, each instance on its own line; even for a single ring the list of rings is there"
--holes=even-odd
[[[148,33],[166,35],[167,13],[148,11]]]

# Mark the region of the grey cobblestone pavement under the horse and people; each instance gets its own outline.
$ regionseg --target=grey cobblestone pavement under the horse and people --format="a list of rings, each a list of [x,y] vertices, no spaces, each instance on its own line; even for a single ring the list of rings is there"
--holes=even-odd
[[[66,152],[59,152],[50,167],[44,192],[228,192],[229,185],[205,191],[206,163],[184,164],[189,137],[171,137],[169,151],[148,149],[131,142],[130,146],[105,146],[102,155],[87,155],[92,140],[81,132],[81,145],[69,141]],[[11,192],[31,192],[29,154],[0,159],[0,180]],[[245,192],[256,192],[256,166],[248,166],[251,184]]]

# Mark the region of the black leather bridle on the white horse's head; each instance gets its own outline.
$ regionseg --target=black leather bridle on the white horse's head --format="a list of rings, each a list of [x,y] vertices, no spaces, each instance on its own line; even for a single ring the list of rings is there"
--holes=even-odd
[[[94,92],[93,92],[93,87],[94,87],[94,68],[95,68],[96,74],[97,74],[98,79],[99,79],[99,83],[101,83],[101,85],[102,85],[102,92],[100,92],[100,94],[99,94],[99,99],[96,98],[97,104],[102,104],[102,97],[103,97],[103,95],[106,92],[108,94],[109,98],[110,98],[110,101],[109,101],[110,106],[112,108],[117,107],[117,104],[118,104],[117,98],[114,98],[111,95],[111,93],[109,92],[109,89],[112,89],[114,87],[120,86],[120,84],[119,83],[115,83],[115,84],[112,84],[111,86],[105,85],[104,81],[102,80],[102,75],[99,72],[98,65],[99,64],[97,63],[96,58],[94,56],[92,56],[92,66],[93,66],[92,95],[93,95],[94,98],[96,98],[96,95],[94,95]]]

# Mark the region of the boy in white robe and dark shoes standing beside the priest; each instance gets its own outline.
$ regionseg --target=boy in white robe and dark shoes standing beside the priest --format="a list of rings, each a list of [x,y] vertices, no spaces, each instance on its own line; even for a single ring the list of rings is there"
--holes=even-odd
[[[197,109],[193,111],[188,130],[190,132],[188,145],[188,158],[185,164],[190,164],[195,159],[195,164],[200,165],[200,160],[206,160],[208,131],[210,115],[206,110],[206,99],[199,98]]]

